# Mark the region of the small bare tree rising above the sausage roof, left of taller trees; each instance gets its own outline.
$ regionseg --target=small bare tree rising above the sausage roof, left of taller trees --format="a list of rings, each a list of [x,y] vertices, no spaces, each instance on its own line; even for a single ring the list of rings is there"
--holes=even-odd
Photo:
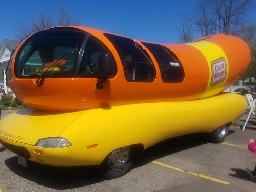
[[[176,29],[178,30],[178,32],[181,34],[178,37],[178,42],[179,43],[187,43],[192,41],[193,39],[193,34],[191,31],[191,27],[192,27],[192,20],[188,19],[187,16],[183,16],[180,13],[180,18],[182,21],[182,29],[180,30],[177,26]]]

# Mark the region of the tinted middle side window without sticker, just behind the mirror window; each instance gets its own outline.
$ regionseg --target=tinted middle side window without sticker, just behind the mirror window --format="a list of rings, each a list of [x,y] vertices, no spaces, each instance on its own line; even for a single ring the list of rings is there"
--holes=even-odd
[[[117,50],[122,61],[124,75],[129,82],[152,82],[155,68],[147,52],[134,40],[108,33],[104,35]]]

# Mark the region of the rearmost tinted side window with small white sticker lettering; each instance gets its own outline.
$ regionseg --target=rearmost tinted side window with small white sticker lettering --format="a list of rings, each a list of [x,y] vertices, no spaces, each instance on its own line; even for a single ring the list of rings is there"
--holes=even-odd
[[[182,82],[184,70],[177,56],[159,44],[142,42],[154,55],[161,72],[163,82]]]

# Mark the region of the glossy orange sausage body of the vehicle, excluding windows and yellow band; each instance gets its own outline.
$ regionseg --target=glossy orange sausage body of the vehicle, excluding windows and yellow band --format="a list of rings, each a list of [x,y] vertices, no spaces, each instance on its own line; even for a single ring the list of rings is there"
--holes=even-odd
[[[117,63],[117,74],[107,79],[103,90],[96,90],[97,78],[46,78],[42,86],[37,86],[36,78],[17,78],[14,75],[14,61],[21,44],[16,49],[11,63],[13,80],[8,81],[14,94],[28,106],[47,111],[74,111],[106,106],[117,106],[135,103],[168,102],[196,100],[203,96],[209,87],[211,68],[207,57],[193,43],[161,44],[173,50],[184,69],[184,80],[181,83],[164,83],[160,69],[154,56],[145,47],[153,61],[156,78],[153,82],[128,82],[125,79],[120,57],[114,46],[104,36],[104,31],[87,27],[78,27],[103,42],[111,51]],[[27,39],[27,38],[26,38]],[[24,39],[24,41],[26,41]],[[135,40],[135,39],[134,39]],[[23,42],[24,42],[23,41]],[[235,83],[249,65],[251,52],[248,45],[241,39],[227,35],[216,35],[203,40],[220,47],[228,58],[229,72],[225,85],[221,90],[212,90],[211,96],[223,91]],[[141,41],[136,40],[142,47]],[[234,46],[230,46],[230,44]],[[239,53],[238,53],[239,52]],[[216,58],[218,59],[218,58]]]

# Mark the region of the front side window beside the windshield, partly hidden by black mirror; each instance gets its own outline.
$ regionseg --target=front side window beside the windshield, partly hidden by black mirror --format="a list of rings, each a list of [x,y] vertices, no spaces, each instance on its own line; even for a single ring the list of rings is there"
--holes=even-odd
[[[96,38],[90,37],[86,43],[82,57],[79,76],[97,77],[98,60],[100,54],[108,54],[110,63],[115,66],[114,58],[110,51]],[[114,76],[115,74],[113,74]]]

